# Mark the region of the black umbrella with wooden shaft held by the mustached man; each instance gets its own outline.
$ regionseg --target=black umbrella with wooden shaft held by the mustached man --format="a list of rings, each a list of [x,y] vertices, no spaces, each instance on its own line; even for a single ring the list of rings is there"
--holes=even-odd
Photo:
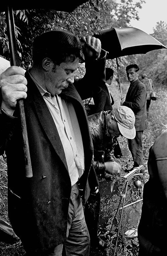
[[[35,1],[1,1],[0,11],[6,14],[6,23],[7,23],[7,35],[9,39],[9,50],[10,50],[10,65],[19,66],[17,47],[16,47],[16,37],[15,37],[15,27],[14,27],[14,17],[13,10],[23,10],[23,9],[54,9],[57,11],[66,11],[71,12],[76,7],[82,3],[87,2],[88,0],[65,0],[65,1],[52,1],[49,3]],[[32,177],[32,166],[29,152],[28,136],[27,136],[27,127],[24,113],[24,103],[20,99],[18,101],[20,117],[21,117],[21,127],[23,135],[23,147],[24,147],[24,157],[25,157],[25,171],[26,177]]]

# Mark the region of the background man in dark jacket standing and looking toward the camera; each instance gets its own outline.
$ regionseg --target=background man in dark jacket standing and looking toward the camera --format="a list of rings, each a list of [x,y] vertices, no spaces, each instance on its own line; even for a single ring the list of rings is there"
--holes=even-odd
[[[135,114],[136,137],[133,140],[128,139],[128,146],[134,161],[133,167],[138,167],[144,163],[142,135],[147,128],[146,87],[138,79],[139,67],[136,64],[127,66],[126,72],[130,86],[121,105],[131,108]]]

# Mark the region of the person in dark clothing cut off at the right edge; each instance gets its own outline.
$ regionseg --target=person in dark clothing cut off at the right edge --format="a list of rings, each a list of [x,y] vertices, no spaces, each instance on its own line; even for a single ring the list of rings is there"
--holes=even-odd
[[[138,226],[139,256],[166,256],[167,241],[167,132],[149,150],[149,180],[143,188]]]

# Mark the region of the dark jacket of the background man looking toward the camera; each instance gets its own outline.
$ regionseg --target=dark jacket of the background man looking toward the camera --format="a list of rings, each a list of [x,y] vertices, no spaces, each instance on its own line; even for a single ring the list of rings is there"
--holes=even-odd
[[[133,110],[136,131],[144,131],[147,128],[146,87],[139,79],[130,84],[123,105]]]

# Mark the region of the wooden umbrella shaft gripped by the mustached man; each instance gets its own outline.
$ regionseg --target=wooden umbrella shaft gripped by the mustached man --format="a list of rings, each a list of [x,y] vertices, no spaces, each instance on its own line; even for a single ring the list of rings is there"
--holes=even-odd
[[[7,6],[6,14],[6,24],[8,31],[8,39],[9,39],[9,51],[10,51],[10,65],[11,66],[19,66],[17,47],[16,47],[16,36],[15,36],[15,27],[14,27],[14,17],[13,17],[13,9],[11,6]],[[23,136],[23,150],[25,157],[25,176],[27,178],[32,177],[32,166],[28,145],[28,136],[27,136],[27,126],[25,120],[25,112],[24,112],[24,103],[23,99],[18,101],[19,110],[20,110],[20,119],[21,119],[21,129]]]

